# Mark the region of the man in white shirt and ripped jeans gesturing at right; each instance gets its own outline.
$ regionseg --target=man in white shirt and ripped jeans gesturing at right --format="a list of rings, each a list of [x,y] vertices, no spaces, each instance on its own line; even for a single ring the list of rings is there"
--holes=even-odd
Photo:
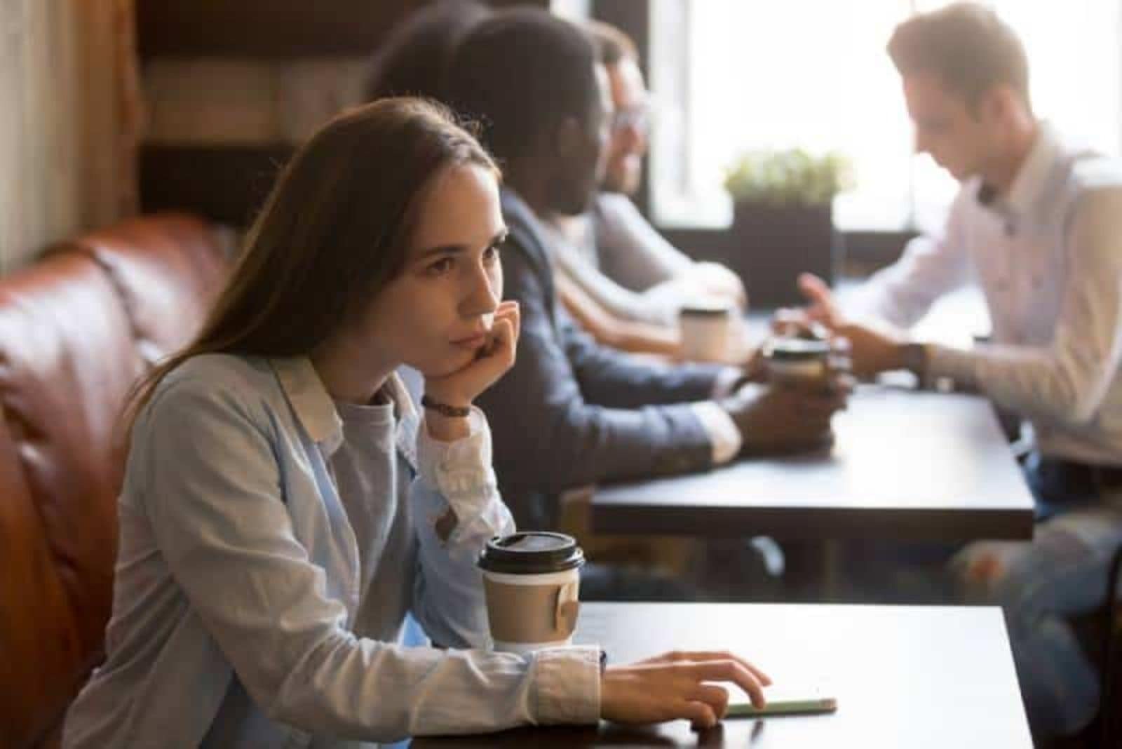
[[[1030,422],[1034,539],[969,545],[951,570],[1004,607],[1034,732],[1074,733],[1095,714],[1098,682],[1066,619],[1102,605],[1122,545],[1122,164],[1033,117],[1023,47],[990,10],[916,16],[889,54],[917,150],[962,189],[945,235],[909,244],[855,309],[843,312],[820,279],[800,279],[807,312],[850,340],[858,374],[949,379]],[[972,276],[992,343],[962,350],[903,332]]]

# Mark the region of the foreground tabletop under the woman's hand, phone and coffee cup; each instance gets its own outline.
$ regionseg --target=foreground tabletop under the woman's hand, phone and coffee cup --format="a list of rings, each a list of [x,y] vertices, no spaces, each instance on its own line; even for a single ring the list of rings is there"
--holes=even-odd
[[[1001,612],[990,607],[589,603],[577,639],[627,663],[673,648],[726,648],[776,682],[827,677],[829,715],[730,719],[695,732],[686,721],[601,723],[413,747],[752,747],[798,749],[1030,749]],[[734,687],[735,688],[735,687]]]

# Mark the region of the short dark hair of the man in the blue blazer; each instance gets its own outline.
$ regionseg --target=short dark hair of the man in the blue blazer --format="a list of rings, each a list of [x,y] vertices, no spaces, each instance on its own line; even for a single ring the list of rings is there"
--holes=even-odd
[[[534,155],[539,139],[567,117],[582,123],[599,96],[589,36],[544,10],[504,10],[476,25],[457,48],[448,98],[482,126],[499,159]]]

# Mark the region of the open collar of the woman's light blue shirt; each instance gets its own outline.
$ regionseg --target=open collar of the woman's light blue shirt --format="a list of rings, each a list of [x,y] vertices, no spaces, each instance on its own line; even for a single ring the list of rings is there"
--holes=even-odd
[[[343,423],[312,361],[306,357],[291,357],[269,359],[269,364],[276,372],[280,389],[296,414],[296,419],[312,442],[322,445],[328,455],[339,450],[343,442]],[[413,399],[397,372],[389,374],[384,388],[398,417],[403,422],[415,420]]]

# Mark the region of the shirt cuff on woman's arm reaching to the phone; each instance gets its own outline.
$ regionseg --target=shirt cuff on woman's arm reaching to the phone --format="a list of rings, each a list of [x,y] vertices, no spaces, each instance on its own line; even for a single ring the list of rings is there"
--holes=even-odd
[[[548,648],[534,653],[537,723],[600,720],[600,648]]]

